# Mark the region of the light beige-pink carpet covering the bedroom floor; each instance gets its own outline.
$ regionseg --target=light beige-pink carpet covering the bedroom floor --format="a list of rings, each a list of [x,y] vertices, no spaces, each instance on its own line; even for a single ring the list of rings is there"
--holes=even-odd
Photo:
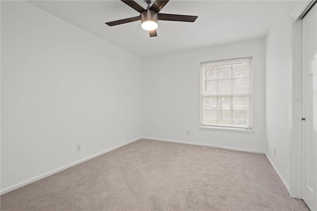
[[[264,155],[140,140],[1,196],[1,210],[309,210]]]

